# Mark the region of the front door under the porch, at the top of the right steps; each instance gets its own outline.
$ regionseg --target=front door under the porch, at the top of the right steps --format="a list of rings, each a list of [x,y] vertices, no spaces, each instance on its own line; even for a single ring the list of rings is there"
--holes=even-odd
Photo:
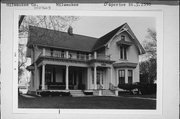
[[[104,88],[104,78],[103,78],[103,71],[102,70],[97,71],[97,86],[98,86],[98,89]]]

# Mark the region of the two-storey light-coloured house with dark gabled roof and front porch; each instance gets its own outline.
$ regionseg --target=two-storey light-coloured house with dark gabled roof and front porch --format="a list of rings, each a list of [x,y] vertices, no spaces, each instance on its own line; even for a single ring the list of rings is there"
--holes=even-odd
[[[29,26],[30,91],[109,90],[139,82],[145,51],[127,23],[100,38]]]

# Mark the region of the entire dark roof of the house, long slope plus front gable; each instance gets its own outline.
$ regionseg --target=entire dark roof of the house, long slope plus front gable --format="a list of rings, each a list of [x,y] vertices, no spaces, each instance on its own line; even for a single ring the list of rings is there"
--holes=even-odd
[[[137,47],[139,54],[144,54],[145,50],[127,23],[110,31],[99,39],[78,34],[71,35],[67,32],[29,26],[29,41],[27,46],[31,47],[32,45],[39,45],[43,47],[92,52],[106,46],[107,43],[124,27],[128,28],[127,31],[132,36],[132,41]]]

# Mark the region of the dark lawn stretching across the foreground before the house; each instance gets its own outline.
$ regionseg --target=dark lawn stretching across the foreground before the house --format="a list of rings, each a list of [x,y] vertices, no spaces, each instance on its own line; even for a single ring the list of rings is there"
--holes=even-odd
[[[131,97],[35,97],[19,96],[19,108],[156,109],[156,100]]]

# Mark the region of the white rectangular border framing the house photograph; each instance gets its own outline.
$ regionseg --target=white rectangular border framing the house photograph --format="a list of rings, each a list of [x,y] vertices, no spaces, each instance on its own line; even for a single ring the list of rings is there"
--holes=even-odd
[[[58,15],[58,16],[116,16],[116,17],[154,17],[157,31],[157,100],[155,110],[135,109],[38,109],[18,108],[18,19],[20,15]],[[162,116],[163,98],[163,12],[154,11],[37,11],[15,10],[14,11],[14,40],[13,40],[13,113],[55,113],[58,114],[135,114],[135,115],[158,115]]]

